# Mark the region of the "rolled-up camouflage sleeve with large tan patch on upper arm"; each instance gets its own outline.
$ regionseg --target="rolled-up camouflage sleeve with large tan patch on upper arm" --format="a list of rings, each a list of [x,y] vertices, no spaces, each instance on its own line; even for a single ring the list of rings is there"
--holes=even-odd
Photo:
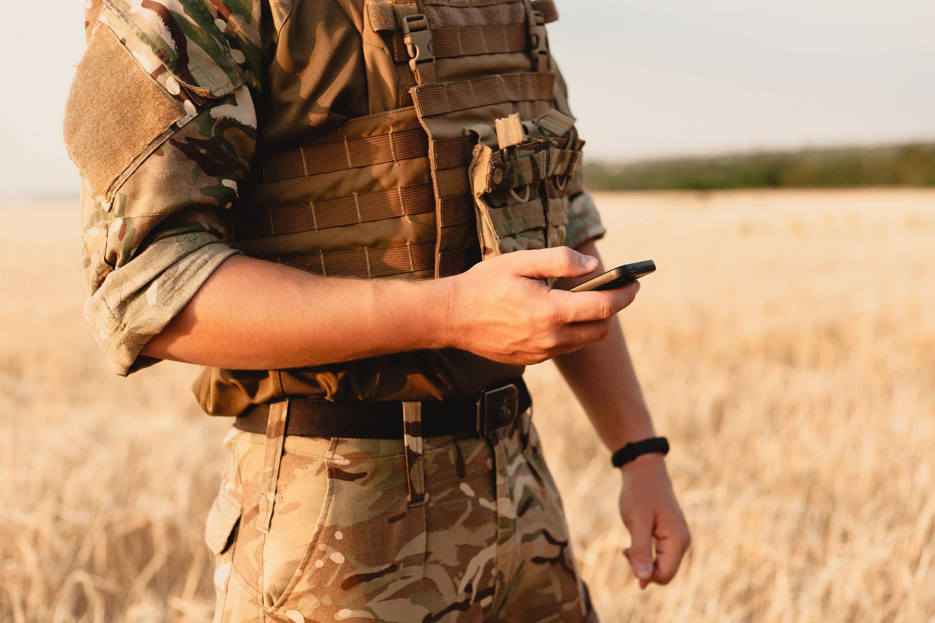
[[[166,15],[200,14],[157,17]],[[202,53],[188,65],[160,64],[161,50],[134,38],[147,24],[126,22],[145,17],[103,9],[65,112],[65,144],[83,182],[84,316],[118,375],[157,361],[142,348],[238,252],[222,242],[223,223],[256,143],[258,85],[245,84],[231,61],[243,58],[231,50],[244,42],[224,41],[215,25],[194,42]],[[163,47],[172,43],[180,45]],[[192,40],[182,43],[193,50]]]

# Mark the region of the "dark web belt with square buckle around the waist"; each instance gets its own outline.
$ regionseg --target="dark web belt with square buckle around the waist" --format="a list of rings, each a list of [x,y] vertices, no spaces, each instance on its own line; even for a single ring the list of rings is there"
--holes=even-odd
[[[522,378],[483,389],[468,398],[422,403],[421,436],[462,433],[486,435],[509,426],[532,406]],[[286,434],[300,437],[402,439],[399,416],[403,403],[368,401],[327,402],[308,398],[289,400]],[[266,433],[269,404],[259,404],[234,426],[241,431]],[[413,432],[418,434],[418,432]]]

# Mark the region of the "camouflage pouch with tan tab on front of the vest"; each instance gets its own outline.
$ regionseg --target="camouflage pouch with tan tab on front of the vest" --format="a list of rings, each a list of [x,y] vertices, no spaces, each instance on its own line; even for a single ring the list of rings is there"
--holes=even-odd
[[[468,128],[478,136],[468,174],[483,260],[565,243],[568,180],[583,146],[573,123],[552,110],[535,121],[511,115],[493,128]]]

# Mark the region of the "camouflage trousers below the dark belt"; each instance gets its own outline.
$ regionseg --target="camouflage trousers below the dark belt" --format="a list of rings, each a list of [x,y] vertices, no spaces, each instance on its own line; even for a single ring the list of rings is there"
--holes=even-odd
[[[402,439],[232,429],[206,531],[214,620],[597,621],[531,410],[421,441],[413,469]]]

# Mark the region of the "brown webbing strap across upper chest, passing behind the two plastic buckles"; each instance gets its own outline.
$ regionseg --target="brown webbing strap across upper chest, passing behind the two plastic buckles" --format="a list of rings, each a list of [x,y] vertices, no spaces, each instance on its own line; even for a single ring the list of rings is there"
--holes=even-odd
[[[528,28],[525,23],[493,26],[453,26],[433,28],[432,55],[435,58],[454,58],[478,54],[525,52],[529,50]],[[401,33],[393,34],[393,60],[410,60],[409,50]]]

